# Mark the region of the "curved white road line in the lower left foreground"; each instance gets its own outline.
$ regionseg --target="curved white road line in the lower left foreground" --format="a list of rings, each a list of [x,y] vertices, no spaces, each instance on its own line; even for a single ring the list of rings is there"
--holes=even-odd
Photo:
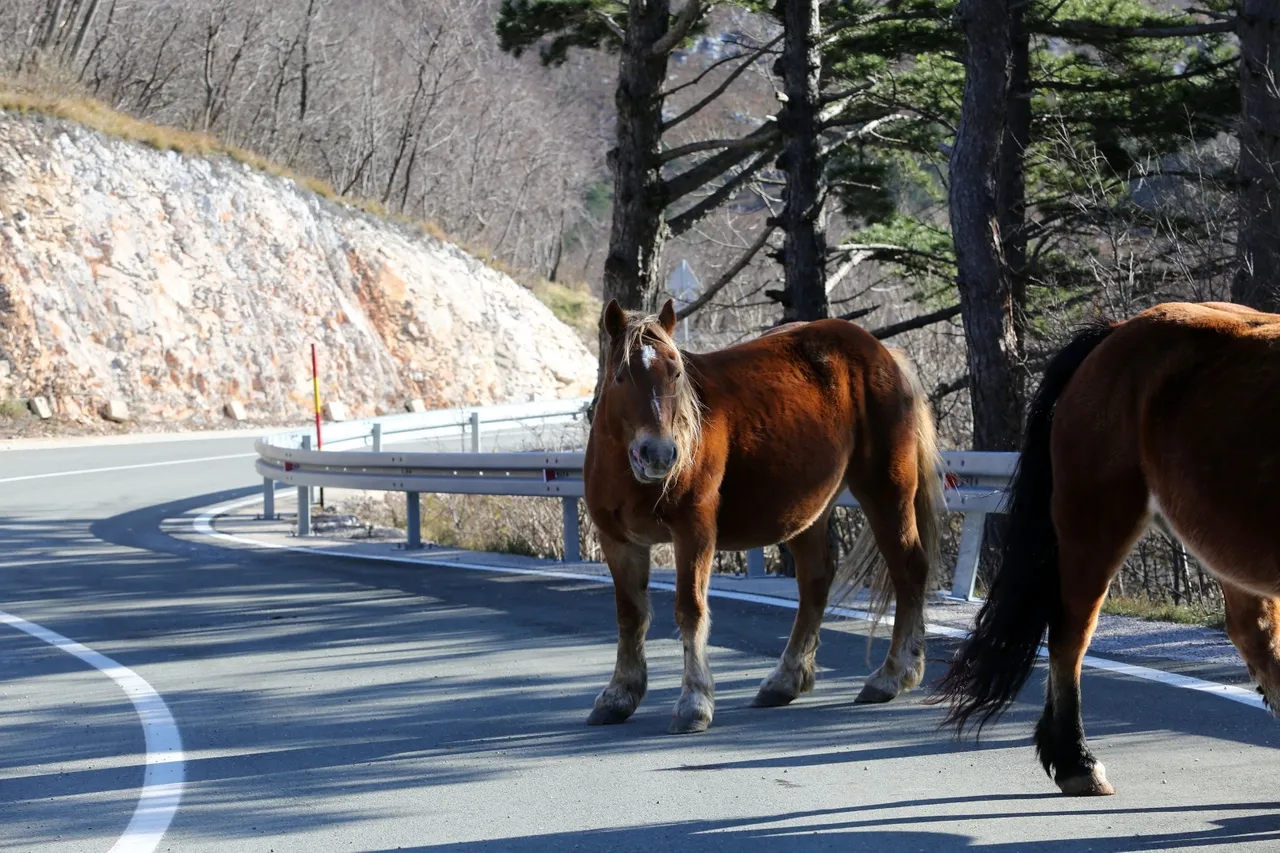
[[[0,624],[12,625],[68,654],[74,654],[115,681],[124,690],[124,695],[129,697],[138,720],[142,721],[147,767],[142,774],[138,806],[110,853],[151,853],[160,844],[178,811],[186,776],[182,735],[178,734],[178,726],[164,699],[141,675],[87,646],[3,610],[0,610]]]

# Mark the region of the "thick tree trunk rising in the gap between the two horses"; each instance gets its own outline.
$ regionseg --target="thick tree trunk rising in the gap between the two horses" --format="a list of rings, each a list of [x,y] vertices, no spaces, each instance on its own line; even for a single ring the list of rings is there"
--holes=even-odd
[[[1012,15],[1007,0],[961,0],[959,12],[968,50],[948,202],[969,351],[973,439],[975,450],[1015,451],[1021,432],[1019,347],[996,205]]]

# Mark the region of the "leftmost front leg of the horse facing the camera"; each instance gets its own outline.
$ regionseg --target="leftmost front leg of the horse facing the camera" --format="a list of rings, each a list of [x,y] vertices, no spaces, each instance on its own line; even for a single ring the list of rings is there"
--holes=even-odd
[[[588,725],[622,722],[639,707],[649,686],[644,637],[649,630],[649,548],[616,542],[600,533],[600,549],[613,575],[618,610],[618,657],[613,679],[595,698]]]

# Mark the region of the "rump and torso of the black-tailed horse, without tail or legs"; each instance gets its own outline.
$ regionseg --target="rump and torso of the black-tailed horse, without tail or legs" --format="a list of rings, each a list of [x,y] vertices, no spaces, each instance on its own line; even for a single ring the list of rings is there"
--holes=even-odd
[[[1165,304],[1117,324],[1053,418],[1055,478],[1106,498],[1137,478],[1211,565],[1277,556],[1280,315]],[[1230,570],[1229,570],[1230,571]]]

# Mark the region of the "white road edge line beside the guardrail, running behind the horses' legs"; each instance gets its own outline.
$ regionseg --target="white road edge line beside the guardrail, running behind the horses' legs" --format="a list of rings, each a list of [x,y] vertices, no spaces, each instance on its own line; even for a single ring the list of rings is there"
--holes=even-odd
[[[486,566],[484,564],[475,562],[456,562],[453,560],[417,560],[411,557],[397,557],[389,555],[376,555],[376,553],[348,553],[339,552],[337,549],[324,548],[320,546],[291,546],[280,544],[274,542],[259,542],[257,539],[250,539],[247,537],[238,537],[230,533],[220,533],[214,529],[214,519],[219,515],[230,512],[232,510],[238,510],[242,506],[250,506],[257,503],[262,497],[255,494],[250,498],[241,498],[238,501],[232,501],[229,503],[223,503],[209,508],[201,516],[192,521],[192,529],[205,537],[214,539],[224,539],[227,542],[236,542],[239,544],[252,546],[255,548],[274,548],[280,551],[296,551],[298,553],[328,553],[329,556],[342,556],[351,557],[355,560],[374,560],[379,562],[398,562],[402,565],[420,565],[420,566],[445,566],[454,569],[467,569],[471,571],[492,571],[497,574],[508,575],[535,575],[539,578],[556,578],[561,580],[584,580],[588,583],[598,583],[603,585],[613,585],[613,579],[605,575],[585,575],[575,571],[557,571],[552,569],[517,569],[513,566]],[[650,589],[662,589],[666,592],[675,592],[675,584],[668,584],[660,580],[650,580]],[[708,588],[707,596],[709,598],[728,598],[732,601],[745,601],[753,605],[767,605],[771,607],[783,607],[786,610],[796,610],[799,602],[790,598],[777,598],[774,596],[760,596],[758,593],[744,593],[733,592],[732,589],[716,589],[714,587]],[[845,616],[849,619],[860,619],[869,621],[870,613],[864,610],[852,610],[849,607],[831,607],[829,613],[836,616]],[[887,625],[893,624],[893,617],[886,615],[882,621]],[[924,630],[928,634],[937,634],[942,637],[951,637],[955,639],[964,639],[969,635],[968,630],[961,628],[952,628],[951,625],[931,625],[925,624]],[[1048,649],[1042,644],[1037,652],[1038,657],[1048,657]],[[1164,670],[1157,670],[1147,666],[1139,666],[1137,663],[1124,663],[1121,661],[1112,661],[1105,657],[1096,657],[1093,654],[1085,654],[1084,666],[1093,667],[1096,670],[1102,670],[1105,672],[1116,672],[1120,675],[1129,675],[1135,679],[1143,679],[1146,681],[1156,681],[1158,684],[1165,684],[1167,686],[1181,688],[1184,690],[1196,690],[1198,693],[1208,693],[1210,695],[1217,695],[1224,699],[1230,699],[1231,702],[1239,702],[1240,704],[1247,704],[1252,708],[1258,708],[1261,711],[1267,711],[1267,707],[1262,703],[1262,697],[1256,692],[1235,686],[1233,684],[1219,684],[1216,681],[1206,681],[1204,679],[1197,679],[1190,675],[1181,675],[1179,672],[1166,672]],[[1270,711],[1267,711],[1270,713]]]

